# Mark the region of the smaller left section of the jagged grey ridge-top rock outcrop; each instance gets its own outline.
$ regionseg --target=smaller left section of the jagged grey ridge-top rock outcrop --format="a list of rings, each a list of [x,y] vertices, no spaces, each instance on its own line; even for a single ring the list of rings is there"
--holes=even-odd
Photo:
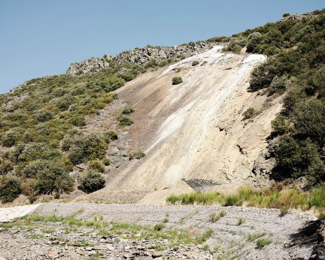
[[[71,63],[67,70],[67,74],[72,76],[78,76],[82,74],[91,74],[93,72],[98,72],[99,70],[110,65],[112,57],[105,54],[101,59],[91,57],[89,59],[83,60],[81,62]]]

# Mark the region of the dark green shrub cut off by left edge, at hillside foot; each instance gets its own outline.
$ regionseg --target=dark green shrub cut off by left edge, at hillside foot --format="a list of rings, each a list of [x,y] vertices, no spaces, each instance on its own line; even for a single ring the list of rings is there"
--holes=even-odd
[[[19,177],[8,175],[0,176],[0,200],[2,202],[11,202],[21,193],[21,180]]]

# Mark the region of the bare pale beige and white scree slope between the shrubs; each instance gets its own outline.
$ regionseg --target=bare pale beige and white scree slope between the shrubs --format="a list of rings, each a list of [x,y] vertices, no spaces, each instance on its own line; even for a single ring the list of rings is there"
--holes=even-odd
[[[163,203],[167,194],[192,188],[232,190],[266,184],[267,178],[252,170],[281,104],[275,99],[262,109],[266,97],[247,91],[250,72],[264,56],[223,54],[222,47],[142,74],[116,90],[120,106],[136,110],[131,114],[135,123],[117,142],[142,149],[146,156],[140,161],[124,159],[117,169],[112,165],[101,194],[156,186],[158,190],[144,194],[140,203]],[[192,66],[194,60],[200,64]],[[183,83],[172,85],[175,76]],[[249,107],[262,112],[243,121]]]

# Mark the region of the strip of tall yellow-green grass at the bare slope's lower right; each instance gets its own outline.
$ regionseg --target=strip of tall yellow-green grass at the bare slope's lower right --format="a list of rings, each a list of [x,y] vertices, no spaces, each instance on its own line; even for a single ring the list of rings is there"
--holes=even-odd
[[[172,194],[167,197],[169,204],[183,205],[221,205],[246,206],[257,208],[281,208],[309,210],[316,208],[325,210],[325,184],[309,191],[289,189],[284,186],[273,185],[268,189],[240,188],[236,193],[221,194],[215,191],[193,191],[180,195]]]

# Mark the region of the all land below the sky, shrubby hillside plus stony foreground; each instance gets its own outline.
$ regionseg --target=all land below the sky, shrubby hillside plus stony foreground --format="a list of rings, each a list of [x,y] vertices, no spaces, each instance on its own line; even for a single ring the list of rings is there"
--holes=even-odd
[[[324,54],[322,9],[0,95],[0,260],[325,259]]]

